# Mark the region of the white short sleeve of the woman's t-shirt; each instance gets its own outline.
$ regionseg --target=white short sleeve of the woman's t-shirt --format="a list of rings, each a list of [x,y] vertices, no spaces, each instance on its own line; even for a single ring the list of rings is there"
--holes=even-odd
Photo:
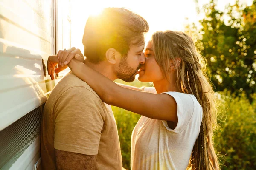
[[[163,125],[167,130],[172,131],[174,133],[182,132],[186,126],[188,125],[192,115],[194,113],[195,104],[192,99],[192,96],[189,94],[177,93],[177,92],[165,92],[172,96],[177,103],[177,116],[178,123],[175,129],[171,129],[168,127],[167,121],[162,120]]]

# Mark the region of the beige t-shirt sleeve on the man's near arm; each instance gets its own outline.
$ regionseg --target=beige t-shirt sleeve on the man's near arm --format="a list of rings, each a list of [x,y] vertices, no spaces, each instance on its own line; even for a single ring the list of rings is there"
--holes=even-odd
[[[54,113],[55,149],[97,155],[105,112],[92,91],[68,89],[56,102]]]

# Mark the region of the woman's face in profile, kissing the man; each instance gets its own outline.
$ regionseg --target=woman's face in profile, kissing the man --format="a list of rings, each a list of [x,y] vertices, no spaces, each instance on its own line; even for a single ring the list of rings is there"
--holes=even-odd
[[[138,80],[141,82],[157,82],[164,79],[160,66],[155,60],[151,41],[148,42],[144,54],[146,60],[145,64],[141,66]]]

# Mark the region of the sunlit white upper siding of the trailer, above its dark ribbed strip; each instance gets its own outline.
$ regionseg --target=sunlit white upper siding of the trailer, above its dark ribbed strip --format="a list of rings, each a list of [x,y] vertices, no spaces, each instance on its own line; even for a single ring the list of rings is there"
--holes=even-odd
[[[0,130],[46,102],[54,87],[43,67],[55,52],[54,26],[53,0],[1,0]]]

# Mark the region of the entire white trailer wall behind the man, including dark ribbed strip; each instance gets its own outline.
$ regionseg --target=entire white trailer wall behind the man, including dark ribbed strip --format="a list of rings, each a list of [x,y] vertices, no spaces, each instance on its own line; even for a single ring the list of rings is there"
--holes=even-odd
[[[39,159],[41,106],[60,80],[44,65],[70,48],[69,4],[0,0],[0,169],[30,170]]]

